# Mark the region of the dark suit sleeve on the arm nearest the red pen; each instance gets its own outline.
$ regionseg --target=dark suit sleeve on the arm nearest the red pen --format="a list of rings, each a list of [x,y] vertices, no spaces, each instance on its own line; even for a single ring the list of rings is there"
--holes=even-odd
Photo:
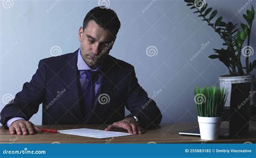
[[[39,61],[38,69],[31,81],[24,83],[22,91],[15,95],[1,112],[1,123],[6,127],[6,122],[15,117],[29,120],[31,116],[38,112],[39,105],[45,95],[46,69],[43,60]]]

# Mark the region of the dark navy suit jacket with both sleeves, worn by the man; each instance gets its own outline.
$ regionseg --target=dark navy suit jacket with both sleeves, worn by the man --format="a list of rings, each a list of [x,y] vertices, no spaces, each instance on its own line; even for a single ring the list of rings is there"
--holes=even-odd
[[[14,117],[29,120],[43,102],[43,125],[110,124],[125,118],[125,107],[136,115],[142,127],[157,126],[162,118],[156,102],[138,84],[134,67],[125,61],[107,56],[101,66],[99,94],[107,94],[109,102],[95,107],[89,115],[83,113],[79,93],[77,53],[64,54],[39,61],[31,81],[2,110],[1,122]],[[57,97],[58,96],[58,97]]]

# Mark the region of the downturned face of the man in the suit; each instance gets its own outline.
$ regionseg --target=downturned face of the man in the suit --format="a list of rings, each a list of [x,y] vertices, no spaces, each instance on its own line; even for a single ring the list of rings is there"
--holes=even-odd
[[[80,50],[86,64],[95,69],[102,63],[112,49],[114,37],[100,27],[94,20],[90,20],[87,27],[79,29]]]

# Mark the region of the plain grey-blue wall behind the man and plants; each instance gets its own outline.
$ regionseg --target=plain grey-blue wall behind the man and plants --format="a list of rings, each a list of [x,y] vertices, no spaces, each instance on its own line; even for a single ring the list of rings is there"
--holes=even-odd
[[[217,16],[233,23],[246,23],[239,12],[248,1],[205,0],[218,9]],[[79,47],[78,29],[86,13],[98,1],[1,1],[0,19],[0,110],[5,102],[22,90],[36,72],[38,61],[51,57],[50,50],[58,46],[57,54],[73,52]],[[179,1],[113,1],[109,8],[117,12],[121,29],[110,54],[136,68],[140,85],[154,97],[162,122],[197,121],[193,100],[195,86],[219,85],[218,77],[227,74],[219,60],[208,58],[222,40],[210,26],[193,14],[183,0]],[[256,2],[250,1],[256,9]],[[106,4],[102,2],[102,4]],[[10,8],[9,8],[10,7]],[[147,9],[145,9],[147,8]],[[251,46],[256,49],[256,22],[251,34]],[[193,57],[202,47],[208,45]],[[146,53],[149,46],[157,53]],[[153,56],[154,55],[154,56]],[[152,57],[150,57],[152,56]],[[256,55],[250,57],[256,59]],[[242,59],[244,62],[244,58]],[[255,71],[253,71],[255,74]],[[42,108],[42,107],[41,107]],[[41,125],[42,109],[31,121]],[[127,112],[128,113],[128,112]]]

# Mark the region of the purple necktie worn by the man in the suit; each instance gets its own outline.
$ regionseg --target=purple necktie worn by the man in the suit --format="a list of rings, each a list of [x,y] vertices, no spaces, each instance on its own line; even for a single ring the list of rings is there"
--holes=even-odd
[[[84,70],[87,78],[87,82],[83,87],[83,106],[85,116],[89,115],[93,109],[93,94],[95,92],[95,76],[98,73],[97,71]]]

